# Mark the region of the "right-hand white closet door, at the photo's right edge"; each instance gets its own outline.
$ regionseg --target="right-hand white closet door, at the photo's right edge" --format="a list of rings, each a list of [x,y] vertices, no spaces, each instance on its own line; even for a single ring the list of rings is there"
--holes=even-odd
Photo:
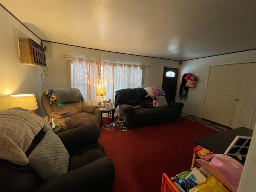
[[[256,122],[256,63],[245,64],[231,128],[254,129]]]

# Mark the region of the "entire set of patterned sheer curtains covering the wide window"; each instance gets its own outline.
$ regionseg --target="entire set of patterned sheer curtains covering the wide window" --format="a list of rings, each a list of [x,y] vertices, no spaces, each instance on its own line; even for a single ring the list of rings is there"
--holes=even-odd
[[[116,90],[141,87],[140,65],[74,58],[72,66],[72,87],[78,88],[90,105],[96,105],[100,100],[96,88],[105,88],[104,99],[114,102]]]

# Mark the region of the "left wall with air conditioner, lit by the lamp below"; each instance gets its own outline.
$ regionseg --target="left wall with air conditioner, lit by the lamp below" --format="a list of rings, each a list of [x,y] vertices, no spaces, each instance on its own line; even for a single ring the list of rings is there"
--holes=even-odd
[[[20,64],[18,37],[32,38],[38,44],[40,40],[2,7],[0,30],[0,110],[10,108],[9,95],[12,94],[35,94],[40,106],[41,68]],[[34,112],[44,115],[42,108]]]

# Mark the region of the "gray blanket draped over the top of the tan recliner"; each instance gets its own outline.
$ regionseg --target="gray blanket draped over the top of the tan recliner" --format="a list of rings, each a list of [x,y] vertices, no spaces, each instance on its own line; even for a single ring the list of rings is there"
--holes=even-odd
[[[77,88],[52,88],[56,94],[56,100],[61,102],[79,102],[81,101],[81,92]]]

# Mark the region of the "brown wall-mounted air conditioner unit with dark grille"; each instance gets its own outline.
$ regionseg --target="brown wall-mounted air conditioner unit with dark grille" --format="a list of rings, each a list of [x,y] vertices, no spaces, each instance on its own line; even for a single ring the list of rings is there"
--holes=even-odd
[[[44,48],[30,38],[18,38],[20,63],[46,67]]]

